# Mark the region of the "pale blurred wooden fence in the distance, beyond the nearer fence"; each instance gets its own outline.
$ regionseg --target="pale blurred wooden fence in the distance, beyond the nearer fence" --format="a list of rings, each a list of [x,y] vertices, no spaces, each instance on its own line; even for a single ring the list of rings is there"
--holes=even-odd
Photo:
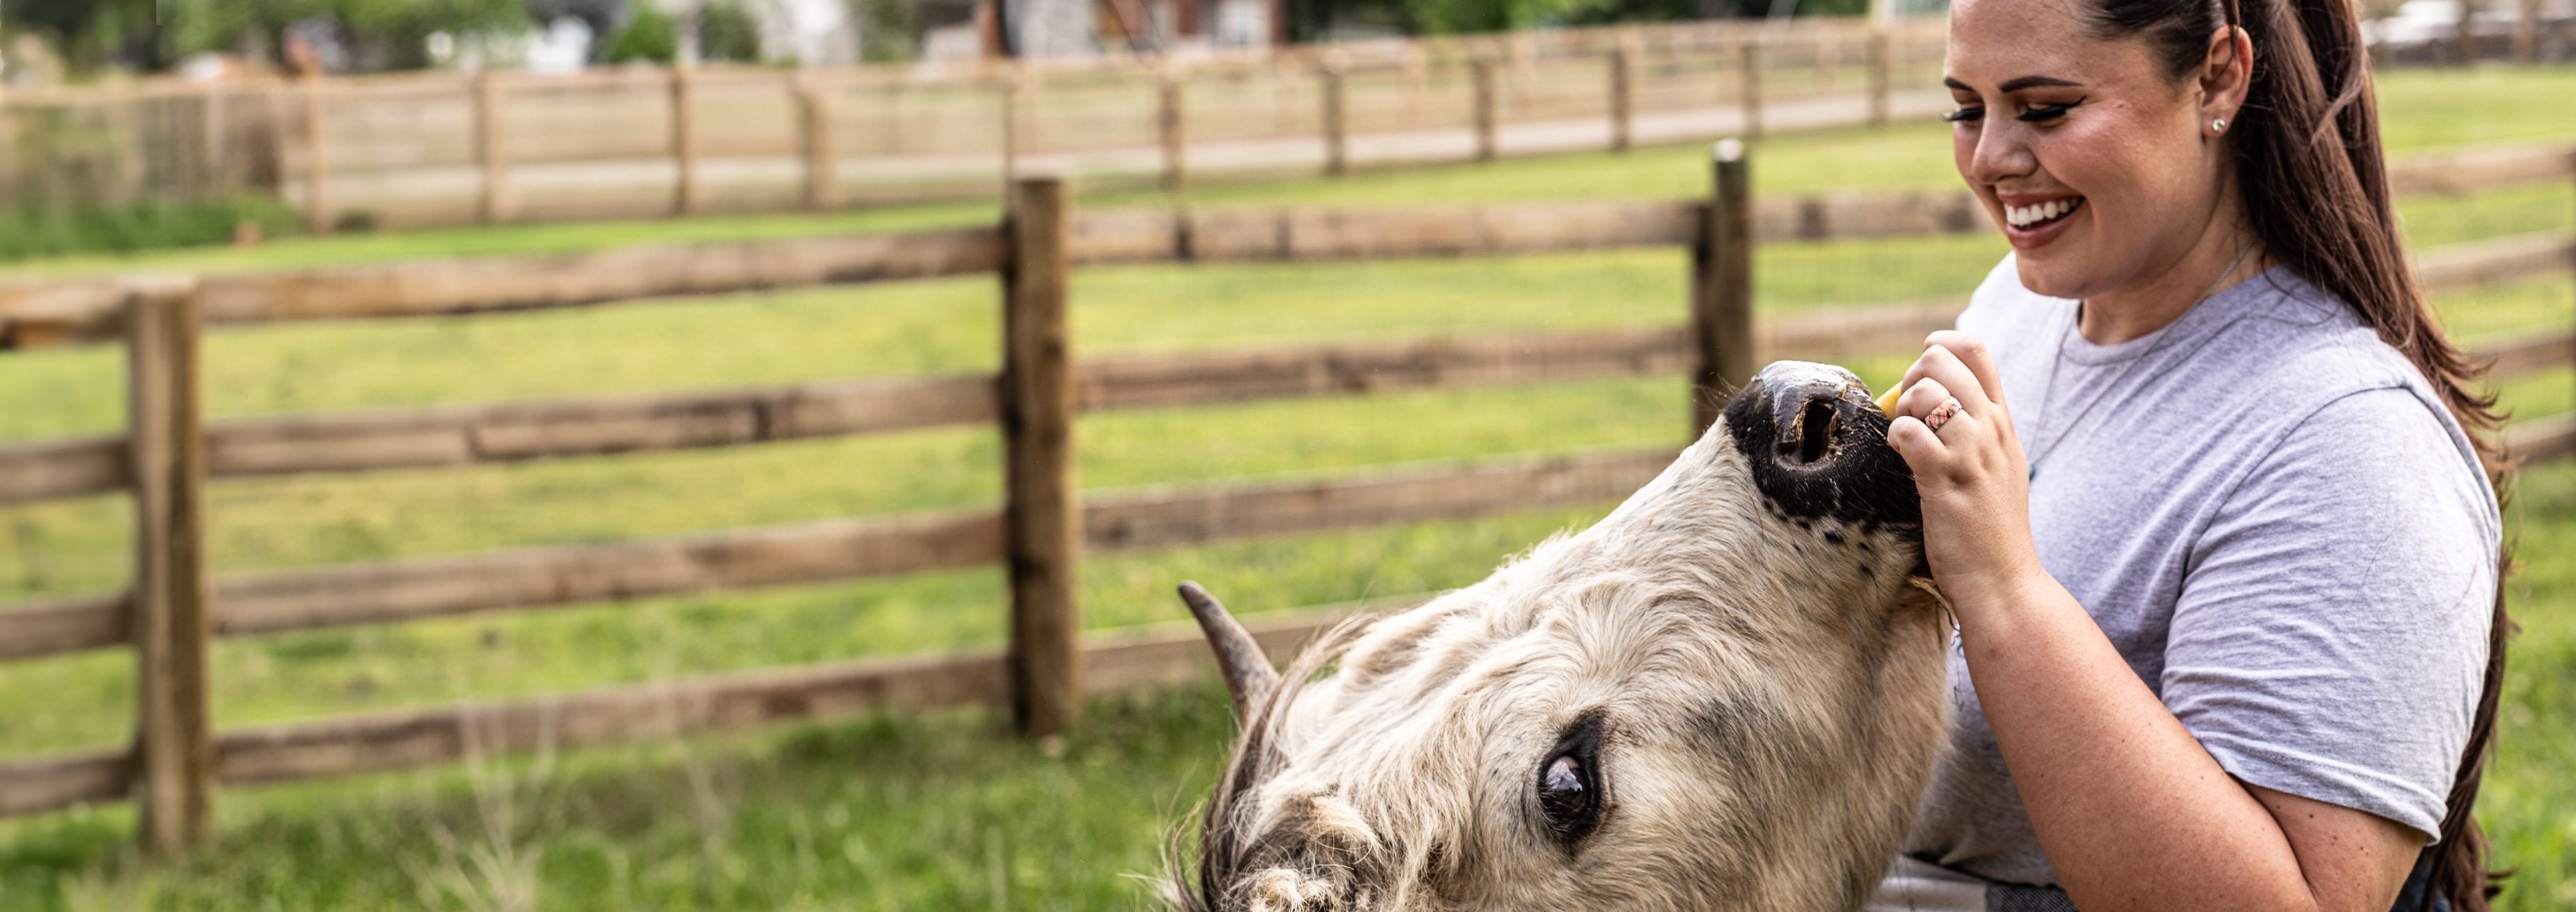
[[[1942,28],[1705,21],[1170,59],[10,90],[0,185],[265,188],[314,229],[997,198],[1020,170],[1177,188],[1922,116],[1947,103]]]

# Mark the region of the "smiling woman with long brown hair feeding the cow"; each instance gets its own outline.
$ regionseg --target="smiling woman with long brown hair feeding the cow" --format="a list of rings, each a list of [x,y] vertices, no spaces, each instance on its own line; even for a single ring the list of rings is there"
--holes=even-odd
[[[2483,909],[2496,415],[2349,0],[1958,0],[1945,82],[2014,252],[1888,430],[1960,716],[1873,907]]]

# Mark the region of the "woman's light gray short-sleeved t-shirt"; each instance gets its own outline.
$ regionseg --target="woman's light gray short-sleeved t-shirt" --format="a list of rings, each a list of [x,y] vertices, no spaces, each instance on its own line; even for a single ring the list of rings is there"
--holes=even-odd
[[[2012,258],[1958,317],[1994,348],[2035,456],[2040,564],[2221,768],[2429,840],[2478,706],[2501,533],[2439,394],[2285,268],[2161,343],[2092,345],[2074,317]],[[1904,853],[2056,884],[1958,652],[1950,688],[1950,752]]]

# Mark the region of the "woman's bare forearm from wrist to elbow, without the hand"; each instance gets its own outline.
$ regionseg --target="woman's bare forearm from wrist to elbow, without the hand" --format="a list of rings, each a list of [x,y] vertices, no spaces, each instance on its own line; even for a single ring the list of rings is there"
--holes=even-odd
[[[2087,912],[2324,909],[2290,837],[2040,575],[1955,603],[1968,678]]]

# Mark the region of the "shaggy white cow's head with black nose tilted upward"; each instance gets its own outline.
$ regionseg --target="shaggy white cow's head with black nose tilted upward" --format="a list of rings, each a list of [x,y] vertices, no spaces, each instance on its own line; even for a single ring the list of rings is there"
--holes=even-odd
[[[1182,585],[1244,734],[1190,909],[1847,909],[1947,698],[1919,502],[1847,371],[1775,363],[1589,531],[1285,675]]]

